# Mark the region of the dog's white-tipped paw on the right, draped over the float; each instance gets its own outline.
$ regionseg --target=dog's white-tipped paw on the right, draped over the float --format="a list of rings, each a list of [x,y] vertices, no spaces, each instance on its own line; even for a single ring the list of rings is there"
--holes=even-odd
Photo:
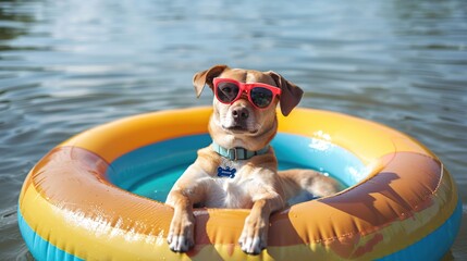
[[[245,221],[238,244],[242,250],[248,254],[259,254],[267,247],[268,227],[263,220],[251,221],[248,216]]]

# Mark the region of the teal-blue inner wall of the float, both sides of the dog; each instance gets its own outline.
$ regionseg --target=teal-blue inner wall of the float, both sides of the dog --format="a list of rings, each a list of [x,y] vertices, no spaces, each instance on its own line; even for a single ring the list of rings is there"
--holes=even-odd
[[[164,202],[173,184],[195,161],[197,150],[211,142],[211,137],[202,134],[147,145],[111,162],[107,178],[122,189]],[[278,133],[271,145],[279,170],[317,170],[347,187],[365,178],[365,164],[330,141]]]

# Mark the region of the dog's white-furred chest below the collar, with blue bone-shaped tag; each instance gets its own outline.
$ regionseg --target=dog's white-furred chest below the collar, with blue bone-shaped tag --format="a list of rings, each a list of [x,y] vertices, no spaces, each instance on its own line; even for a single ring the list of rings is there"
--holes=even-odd
[[[210,177],[206,207],[251,208],[250,189],[256,182],[248,178],[246,171],[244,161],[222,160],[216,175]]]

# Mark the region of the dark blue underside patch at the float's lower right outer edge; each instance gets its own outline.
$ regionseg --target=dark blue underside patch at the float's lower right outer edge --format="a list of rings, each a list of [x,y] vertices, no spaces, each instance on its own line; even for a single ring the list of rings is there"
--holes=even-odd
[[[463,204],[459,198],[456,209],[443,225],[409,247],[378,260],[441,260],[445,250],[454,244],[460,228],[462,216]]]

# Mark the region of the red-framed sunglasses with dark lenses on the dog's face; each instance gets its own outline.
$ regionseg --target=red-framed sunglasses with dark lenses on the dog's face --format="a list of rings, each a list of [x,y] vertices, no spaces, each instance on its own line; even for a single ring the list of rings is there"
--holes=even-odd
[[[225,104],[232,104],[245,91],[251,104],[258,109],[266,109],[281,95],[280,88],[261,83],[246,84],[231,78],[214,78],[213,84],[216,98]]]

